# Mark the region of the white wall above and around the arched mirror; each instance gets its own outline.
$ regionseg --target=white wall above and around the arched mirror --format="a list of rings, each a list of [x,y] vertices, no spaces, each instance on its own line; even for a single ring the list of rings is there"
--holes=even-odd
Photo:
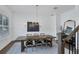
[[[63,25],[67,20],[75,20],[76,25],[79,25],[79,7],[77,9],[74,8],[73,10],[65,12],[61,15],[61,25]]]

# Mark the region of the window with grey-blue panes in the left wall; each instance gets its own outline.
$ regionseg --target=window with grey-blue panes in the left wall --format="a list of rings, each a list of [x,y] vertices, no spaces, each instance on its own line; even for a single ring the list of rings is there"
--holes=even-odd
[[[9,33],[9,21],[7,16],[0,15],[0,36],[3,37]]]

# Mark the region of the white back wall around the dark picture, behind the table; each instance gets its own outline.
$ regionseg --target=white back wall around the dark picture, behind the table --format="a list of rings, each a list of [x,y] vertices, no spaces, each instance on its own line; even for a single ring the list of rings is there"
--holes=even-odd
[[[27,21],[38,21],[40,25],[39,32],[27,32]],[[14,36],[15,39],[18,36],[25,36],[27,33],[45,33],[49,35],[56,35],[56,18],[55,16],[39,16],[38,20],[35,20],[32,15],[27,14],[14,14]],[[25,25],[26,23],[26,25]]]

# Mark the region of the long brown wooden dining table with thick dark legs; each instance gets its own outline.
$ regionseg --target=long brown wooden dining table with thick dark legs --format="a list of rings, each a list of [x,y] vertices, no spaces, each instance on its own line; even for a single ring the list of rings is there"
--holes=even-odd
[[[52,47],[52,40],[54,38],[55,37],[53,37],[52,35],[32,35],[32,36],[20,37],[19,41],[21,42],[21,52],[24,51],[24,49],[26,48],[24,45],[24,42],[27,41],[28,39],[30,39],[30,40],[48,40],[50,42],[49,46]]]

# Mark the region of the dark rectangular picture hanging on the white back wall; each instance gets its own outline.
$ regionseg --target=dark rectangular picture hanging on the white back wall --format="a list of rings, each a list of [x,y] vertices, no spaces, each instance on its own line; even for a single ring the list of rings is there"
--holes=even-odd
[[[39,23],[38,22],[27,22],[27,32],[38,32]]]

